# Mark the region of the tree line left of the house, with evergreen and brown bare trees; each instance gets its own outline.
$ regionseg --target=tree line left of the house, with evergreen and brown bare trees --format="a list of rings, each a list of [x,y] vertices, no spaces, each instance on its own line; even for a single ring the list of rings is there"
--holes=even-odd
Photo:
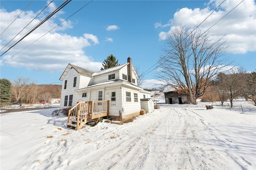
[[[11,103],[35,104],[51,99],[59,99],[62,85],[36,85],[28,77],[18,77],[14,81],[0,79],[0,105]]]

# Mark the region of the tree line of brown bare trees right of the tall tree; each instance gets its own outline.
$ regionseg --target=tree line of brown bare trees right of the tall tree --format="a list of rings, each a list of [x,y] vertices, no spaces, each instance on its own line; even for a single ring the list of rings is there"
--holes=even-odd
[[[231,73],[219,73],[206,90],[203,100],[211,102],[230,101],[233,107],[233,100],[238,97],[250,99],[256,106],[256,71],[246,73],[243,68],[233,70]]]

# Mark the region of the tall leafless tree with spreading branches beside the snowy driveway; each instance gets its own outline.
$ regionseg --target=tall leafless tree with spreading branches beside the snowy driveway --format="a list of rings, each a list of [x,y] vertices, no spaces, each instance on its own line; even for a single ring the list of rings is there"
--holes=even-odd
[[[204,95],[212,77],[229,65],[223,37],[214,41],[208,32],[185,26],[173,28],[160,57],[158,78],[166,86],[189,93],[192,104]]]

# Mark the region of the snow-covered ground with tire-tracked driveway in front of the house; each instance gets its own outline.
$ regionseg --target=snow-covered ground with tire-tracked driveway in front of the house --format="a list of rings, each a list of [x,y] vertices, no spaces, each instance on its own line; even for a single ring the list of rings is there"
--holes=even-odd
[[[256,107],[206,104],[160,104],[130,123],[77,131],[55,109],[3,113],[0,169],[255,170]]]

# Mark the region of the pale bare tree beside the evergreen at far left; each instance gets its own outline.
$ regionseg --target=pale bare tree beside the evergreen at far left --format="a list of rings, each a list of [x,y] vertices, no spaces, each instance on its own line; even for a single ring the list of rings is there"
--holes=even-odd
[[[20,99],[24,98],[28,89],[31,87],[30,79],[28,77],[18,77],[16,80],[12,82],[12,95],[16,100],[16,103],[19,102]]]

